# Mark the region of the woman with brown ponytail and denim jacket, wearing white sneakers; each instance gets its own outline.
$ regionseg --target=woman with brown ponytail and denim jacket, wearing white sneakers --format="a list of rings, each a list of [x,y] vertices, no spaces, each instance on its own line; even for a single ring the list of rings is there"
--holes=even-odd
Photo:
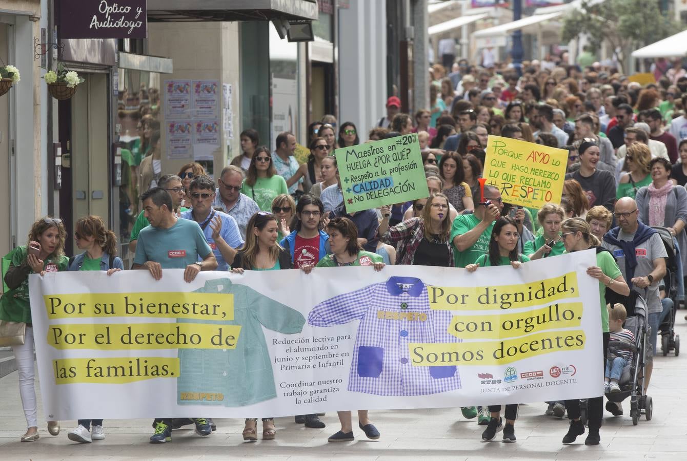
[[[74,240],[83,252],[69,258],[67,270],[104,270],[108,275],[124,270],[122,259],[117,257],[117,236],[105,227],[100,216],[80,218],[74,227]],[[67,438],[80,443],[105,440],[102,419],[80,419]]]

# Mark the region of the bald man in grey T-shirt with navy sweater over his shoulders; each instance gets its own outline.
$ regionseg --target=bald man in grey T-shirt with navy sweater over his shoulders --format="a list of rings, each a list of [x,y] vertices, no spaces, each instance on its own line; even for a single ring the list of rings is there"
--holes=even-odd
[[[649,325],[651,326],[650,340],[652,351],[647,351],[646,379],[644,390],[649,387],[651,371],[653,370],[653,355],[656,353],[657,331],[660,326],[660,316],[663,305],[658,288],[666,275],[666,258],[668,253],[660,235],[649,226],[639,221],[637,202],[633,198],[623,197],[616,202],[613,215],[618,226],[612,228],[603,237],[602,246],[616,258],[618,268],[629,285],[631,292],[645,295],[649,307]],[[630,305],[626,305],[628,312],[634,311],[632,294]],[[617,405],[617,407],[616,407]],[[606,404],[606,410],[614,415],[622,414],[620,404]]]

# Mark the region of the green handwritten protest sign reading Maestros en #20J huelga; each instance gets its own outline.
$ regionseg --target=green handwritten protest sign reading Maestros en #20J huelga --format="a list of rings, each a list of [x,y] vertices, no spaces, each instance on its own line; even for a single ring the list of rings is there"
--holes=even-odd
[[[334,151],[346,211],[429,196],[416,133]]]

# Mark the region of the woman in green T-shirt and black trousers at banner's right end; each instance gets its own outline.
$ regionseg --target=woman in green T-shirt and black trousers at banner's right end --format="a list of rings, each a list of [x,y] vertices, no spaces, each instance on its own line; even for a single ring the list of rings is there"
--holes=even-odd
[[[567,252],[584,251],[600,245],[599,240],[592,234],[592,228],[580,217],[571,217],[563,221],[561,225],[563,234],[563,244]],[[622,277],[622,272],[608,251],[596,251],[596,265],[587,268],[587,274],[599,281],[599,308],[601,309],[601,331],[603,332],[603,362],[602,368],[606,370],[606,353],[608,350],[609,327],[608,309],[606,308],[606,289],[610,288],[613,292],[628,296],[630,289]],[[599,383],[599,386],[601,383]],[[585,440],[585,445],[598,445],[601,441],[599,429],[603,416],[603,396],[589,399],[589,434]],[[585,433],[585,425],[580,419],[580,401],[572,399],[565,401],[567,417],[570,418],[570,429],[563,437],[563,443],[572,443],[577,436]]]

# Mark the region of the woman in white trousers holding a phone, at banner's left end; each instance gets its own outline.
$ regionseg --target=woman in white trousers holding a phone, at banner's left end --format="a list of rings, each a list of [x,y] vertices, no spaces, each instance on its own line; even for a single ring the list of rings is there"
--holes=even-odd
[[[46,216],[34,222],[29,231],[28,243],[10,253],[10,266],[5,273],[5,284],[9,289],[0,298],[0,320],[26,324],[24,344],[12,346],[19,368],[19,395],[28,428],[21,436],[22,442],[38,440],[29,275],[67,270],[69,258],[64,251],[66,238],[67,231],[62,220]],[[53,436],[60,434],[60,423],[48,421],[47,430]]]

